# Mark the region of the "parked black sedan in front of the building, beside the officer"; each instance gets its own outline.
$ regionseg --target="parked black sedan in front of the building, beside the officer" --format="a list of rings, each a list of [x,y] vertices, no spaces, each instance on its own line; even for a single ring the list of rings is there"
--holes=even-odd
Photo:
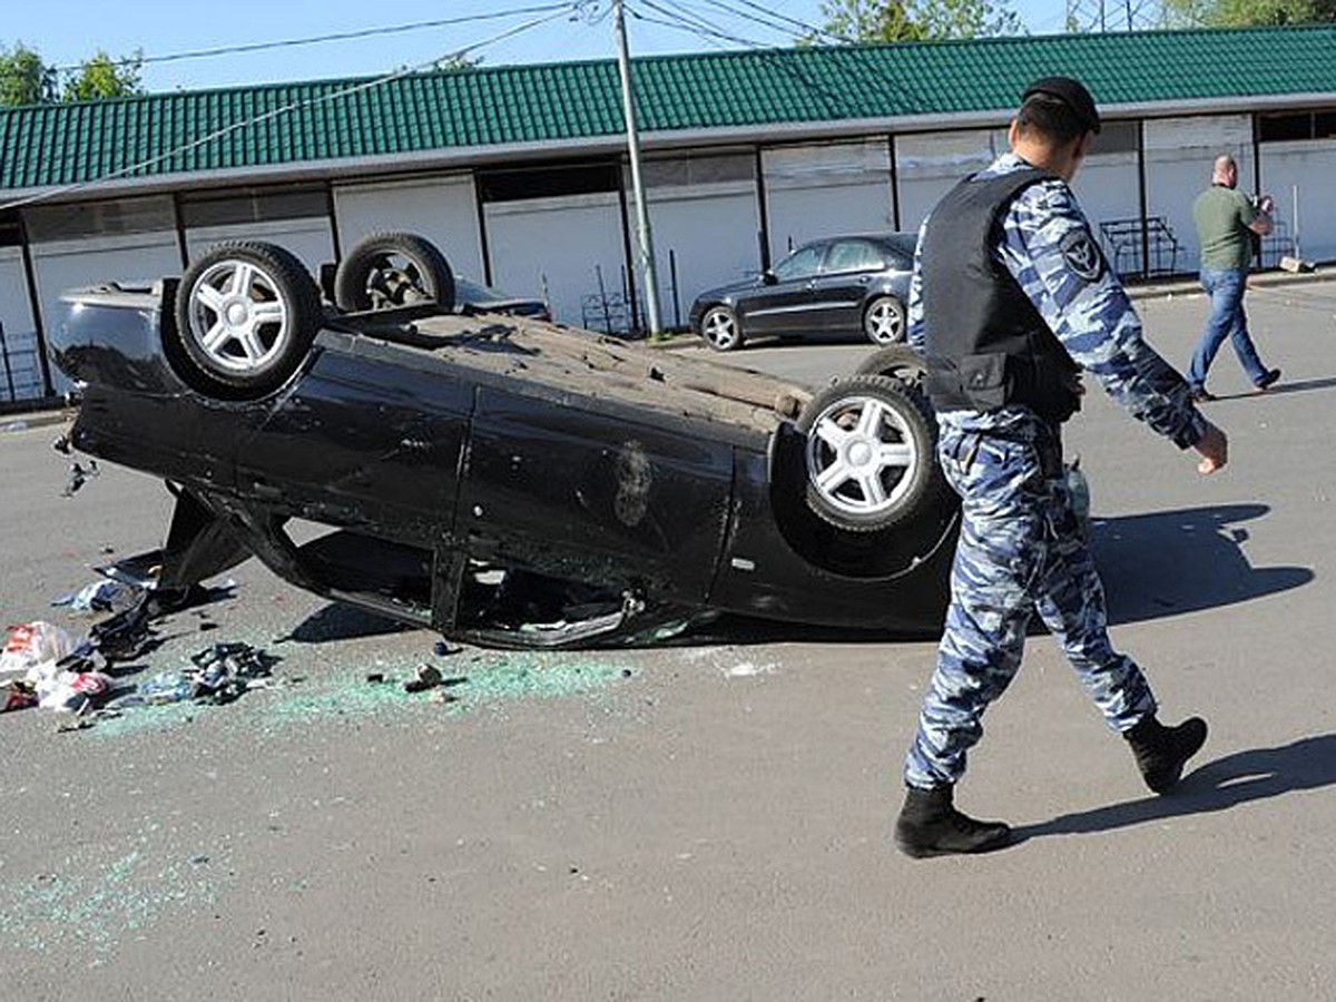
[[[755,279],[711,289],[691,307],[691,327],[719,351],[754,337],[904,339],[904,306],[916,236],[827,236],[804,243]]]

